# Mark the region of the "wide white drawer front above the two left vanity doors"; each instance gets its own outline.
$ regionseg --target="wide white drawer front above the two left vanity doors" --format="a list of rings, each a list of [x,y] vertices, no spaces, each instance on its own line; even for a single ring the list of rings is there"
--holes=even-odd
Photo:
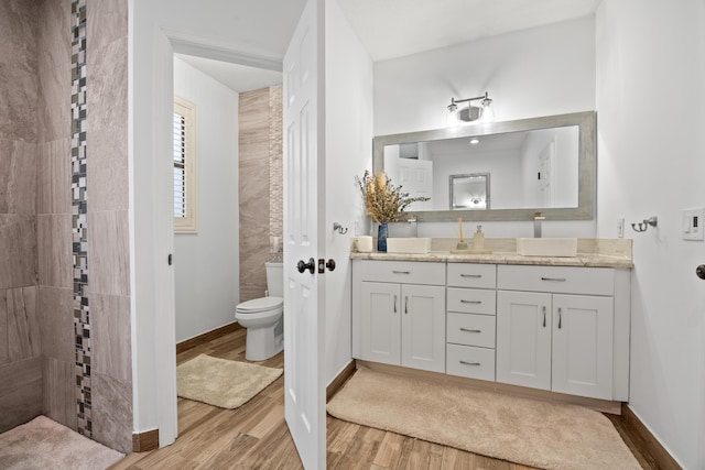
[[[362,260],[360,270],[361,281],[445,285],[445,263]]]

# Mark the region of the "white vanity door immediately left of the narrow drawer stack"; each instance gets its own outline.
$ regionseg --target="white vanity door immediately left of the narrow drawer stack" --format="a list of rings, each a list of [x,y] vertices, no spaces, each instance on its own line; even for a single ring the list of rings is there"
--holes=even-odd
[[[401,364],[445,372],[445,288],[402,284]]]

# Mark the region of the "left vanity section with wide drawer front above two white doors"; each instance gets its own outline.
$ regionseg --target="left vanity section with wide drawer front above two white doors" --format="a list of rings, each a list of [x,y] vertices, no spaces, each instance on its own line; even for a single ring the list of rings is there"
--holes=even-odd
[[[352,356],[445,372],[445,263],[355,260]]]

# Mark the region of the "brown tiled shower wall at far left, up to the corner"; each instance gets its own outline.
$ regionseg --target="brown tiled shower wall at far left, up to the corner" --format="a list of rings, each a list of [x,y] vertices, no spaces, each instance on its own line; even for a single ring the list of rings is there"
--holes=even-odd
[[[36,1],[0,1],[0,433],[42,412],[39,11]]]

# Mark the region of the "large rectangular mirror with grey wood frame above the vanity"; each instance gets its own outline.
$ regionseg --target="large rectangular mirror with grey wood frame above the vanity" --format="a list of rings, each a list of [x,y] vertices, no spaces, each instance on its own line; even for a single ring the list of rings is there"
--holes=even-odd
[[[410,196],[430,198],[404,211],[419,221],[531,220],[535,212],[547,220],[590,220],[596,124],[596,113],[587,111],[380,135],[372,170],[384,171]],[[474,206],[455,205],[452,176],[480,174],[487,175],[488,204],[481,207],[475,197]],[[457,184],[469,188],[467,178]]]

